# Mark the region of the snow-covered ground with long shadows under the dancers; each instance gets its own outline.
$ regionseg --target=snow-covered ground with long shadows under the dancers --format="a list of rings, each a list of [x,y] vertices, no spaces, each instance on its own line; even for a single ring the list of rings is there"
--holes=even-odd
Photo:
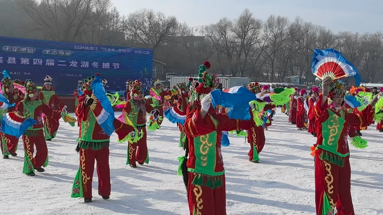
[[[118,115],[119,113],[116,113]],[[72,114],[73,115],[73,114]],[[273,126],[266,131],[261,163],[248,161],[245,138],[229,136],[222,148],[226,168],[228,215],[314,215],[314,160],[310,146],[315,138],[287,123],[278,109]],[[383,133],[375,126],[362,131],[367,149],[351,146],[352,197],[357,215],[383,214]],[[126,165],[127,145],[111,137],[110,200],[97,195],[93,178],[93,202],[70,198],[79,165],[75,152],[78,127],[61,123],[57,138],[48,142],[49,166],[36,176],[22,174],[23,151],[0,159],[0,214],[9,215],[187,215],[186,189],[177,176],[180,132],[165,119],[163,126],[148,134],[149,165],[132,169]]]

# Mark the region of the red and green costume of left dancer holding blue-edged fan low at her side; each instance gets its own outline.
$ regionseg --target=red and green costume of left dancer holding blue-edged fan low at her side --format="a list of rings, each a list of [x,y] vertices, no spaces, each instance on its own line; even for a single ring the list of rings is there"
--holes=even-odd
[[[17,104],[14,111],[20,112],[20,115],[26,118],[33,118],[37,121],[36,124],[29,127],[22,135],[25,152],[22,173],[28,174],[33,172],[34,169],[48,165],[48,148],[44,138],[42,113],[52,120],[58,121],[61,118],[61,112],[49,108],[40,100],[21,101]],[[36,148],[35,157],[33,157],[33,147]]]

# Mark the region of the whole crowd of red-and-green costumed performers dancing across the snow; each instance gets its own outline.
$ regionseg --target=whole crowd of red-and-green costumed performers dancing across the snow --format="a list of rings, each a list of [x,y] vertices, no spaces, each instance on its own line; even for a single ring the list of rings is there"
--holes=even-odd
[[[105,200],[111,192],[109,144],[113,132],[119,142],[128,142],[127,162],[132,168],[137,163],[149,164],[147,132],[161,128],[164,117],[177,123],[180,130],[179,146],[185,156],[179,158],[178,175],[187,188],[191,215],[225,215],[225,170],[221,146],[228,146],[229,133],[245,136],[250,144],[249,161],[259,163],[266,139],[265,130],[272,125],[275,108],[281,107],[289,115],[288,121],[298,130],[308,130],[317,141],[312,147],[315,157],[315,197],[317,215],[354,214],[351,200],[351,170],[347,136],[352,145],[367,147],[361,130],[378,122],[383,131],[383,89],[369,93],[363,88],[348,88],[341,80],[325,78],[320,88],[306,90],[275,88],[250,83],[248,92],[255,100],[248,104],[249,119],[230,118],[228,108],[212,106],[212,92],[219,86],[215,74],[209,74],[210,63],[199,66],[198,77],[164,90],[156,81],[144,96],[140,80],[127,81],[124,100],[105,91],[106,80],[99,74],[81,80],[74,92],[76,119],[66,111],[66,105],[55,95],[52,79],[46,76],[42,90],[31,81],[12,81],[5,73],[1,91],[6,99],[1,105],[1,150],[4,159],[17,156],[17,143],[22,135],[26,175],[34,170],[44,172],[48,165],[47,141],[55,138],[59,119],[79,127],[76,151],[79,169],[75,176],[71,197],[92,202],[92,179],[97,162],[98,194]],[[3,72],[4,74],[4,72]],[[15,87],[17,86],[17,88]],[[22,89],[24,92],[22,92]],[[222,89],[229,92],[230,89]],[[355,98],[347,100],[345,96]],[[379,101],[378,101],[379,100]],[[351,102],[350,102],[351,101]],[[378,101],[378,103],[377,103]],[[11,105],[15,104],[15,105]],[[122,109],[115,118],[112,106]],[[378,108],[378,109],[377,109]],[[149,120],[147,113],[150,114]],[[5,131],[12,121],[25,126],[20,135]],[[24,124],[25,123],[25,124]],[[4,129],[4,130],[3,130]],[[19,130],[22,130],[21,128]],[[36,155],[33,157],[34,148]]]

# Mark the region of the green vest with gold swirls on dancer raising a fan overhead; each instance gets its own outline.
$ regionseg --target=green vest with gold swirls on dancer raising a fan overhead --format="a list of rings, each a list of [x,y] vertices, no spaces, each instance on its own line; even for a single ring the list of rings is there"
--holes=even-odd
[[[322,122],[322,145],[318,145],[318,148],[336,154],[340,157],[346,157],[350,153],[341,154],[338,152],[338,141],[341,138],[343,127],[345,126],[345,111],[341,110],[341,116],[338,116],[330,109],[327,109],[330,116]]]

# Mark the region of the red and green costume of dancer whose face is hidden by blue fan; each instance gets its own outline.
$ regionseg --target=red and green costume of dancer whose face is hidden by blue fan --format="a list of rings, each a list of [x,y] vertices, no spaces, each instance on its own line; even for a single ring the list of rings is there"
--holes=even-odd
[[[110,168],[109,168],[109,141],[110,136],[105,133],[97,122],[95,111],[86,104],[92,95],[91,91],[85,91],[79,97],[79,104],[75,109],[77,120],[80,122],[77,150],[80,153],[80,167],[74,179],[72,198],[92,198],[92,179],[94,163],[97,161],[98,194],[110,196]],[[96,108],[101,106],[96,102]],[[134,130],[130,125],[119,120],[113,121],[115,132],[120,140],[126,138]]]

